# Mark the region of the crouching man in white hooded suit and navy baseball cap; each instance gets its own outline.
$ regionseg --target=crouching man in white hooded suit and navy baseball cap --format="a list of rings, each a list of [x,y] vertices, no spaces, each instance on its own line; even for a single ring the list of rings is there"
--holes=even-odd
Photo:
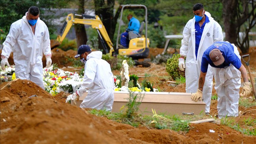
[[[101,51],[91,52],[88,45],[81,45],[78,48],[75,58],[78,57],[82,63],[85,63],[85,74],[81,87],[73,94],[74,103],[88,90],[88,95],[80,108],[111,111],[114,103],[115,83],[109,63],[101,59]]]

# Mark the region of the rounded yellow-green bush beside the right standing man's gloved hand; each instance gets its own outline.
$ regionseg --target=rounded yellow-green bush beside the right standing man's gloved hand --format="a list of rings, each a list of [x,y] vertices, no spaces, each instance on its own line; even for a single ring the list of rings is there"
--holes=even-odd
[[[166,71],[174,79],[180,76],[185,77],[185,71],[179,70],[179,54],[174,54],[172,58],[169,58],[166,63]]]

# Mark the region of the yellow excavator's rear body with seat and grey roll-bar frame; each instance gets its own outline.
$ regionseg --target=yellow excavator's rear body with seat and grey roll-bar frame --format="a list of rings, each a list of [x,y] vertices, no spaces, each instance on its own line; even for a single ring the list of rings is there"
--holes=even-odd
[[[144,59],[147,58],[149,55],[149,43],[150,40],[147,38],[147,7],[142,4],[127,4],[127,5],[121,5],[122,9],[120,12],[120,20],[122,20],[123,17],[123,10],[124,9],[145,9],[145,22],[141,22],[139,33],[136,31],[130,31],[129,32],[129,47],[123,48],[119,47],[119,37],[120,37],[120,28],[121,23],[119,23],[118,31],[117,31],[117,40],[116,40],[116,49],[119,55],[127,55],[129,57],[132,57],[134,60],[138,59]],[[142,35],[142,31],[144,29],[145,24],[145,35]]]

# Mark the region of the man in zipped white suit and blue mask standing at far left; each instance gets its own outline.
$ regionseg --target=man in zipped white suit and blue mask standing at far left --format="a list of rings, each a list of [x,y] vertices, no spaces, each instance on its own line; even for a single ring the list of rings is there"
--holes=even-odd
[[[13,52],[16,78],[33,81],[44,89],[42,57],[44,54],[48,68],[52,53],[49,31],[39,18],[38,7],[30,7],[22,19],[12,23],[3,46],[1,68],[9,66],[8,57]]]

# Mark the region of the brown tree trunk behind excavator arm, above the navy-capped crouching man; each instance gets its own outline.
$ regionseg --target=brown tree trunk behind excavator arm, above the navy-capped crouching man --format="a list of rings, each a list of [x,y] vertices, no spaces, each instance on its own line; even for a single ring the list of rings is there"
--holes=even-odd
[[[77,10],[78,14],[84,14],[85,13],[84,5],[85,5],[84,0],[79,0],[78,1],[78,10]],[[77,16],[75,16],[75,17],[76,18],[81,18],[81,17],[77,17]],[[87,35],[86,35],[86,31],[85,31],[85,25],[74,24],[74,28],[75,28],[76,37],[77,37],[77,47],[81,46],[82,44],[86,44]]]

